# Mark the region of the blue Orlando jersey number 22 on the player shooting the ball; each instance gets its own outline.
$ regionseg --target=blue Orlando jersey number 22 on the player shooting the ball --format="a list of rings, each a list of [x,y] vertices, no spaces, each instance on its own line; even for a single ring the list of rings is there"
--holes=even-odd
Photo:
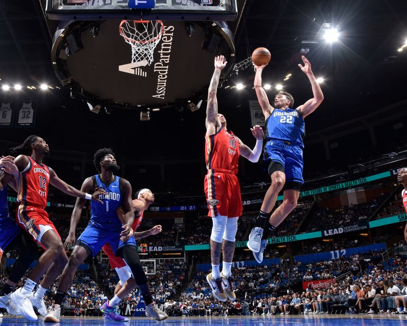
[[[304,134],[304,118],[297,110],[292,108],[286,108],[285,110],[275,108],[266,120],[265,137],[268,142],[279,140],[304,148]]]

